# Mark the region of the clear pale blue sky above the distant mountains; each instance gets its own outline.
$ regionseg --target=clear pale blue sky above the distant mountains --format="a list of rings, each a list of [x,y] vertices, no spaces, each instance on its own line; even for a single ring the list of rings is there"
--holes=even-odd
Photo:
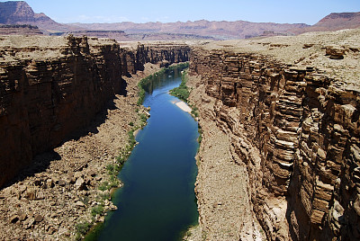
[[[1,1],[4,2],[4,1]],[[314,24],[329,13],[360,12],[360,0],[27,0],[57,22],[244,20]]]

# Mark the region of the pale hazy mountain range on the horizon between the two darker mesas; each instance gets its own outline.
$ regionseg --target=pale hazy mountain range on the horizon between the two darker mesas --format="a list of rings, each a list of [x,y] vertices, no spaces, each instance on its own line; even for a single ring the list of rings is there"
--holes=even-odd
[[[118,22],[118,23],[71,23],[72,27],[79,27],[97,31],[112,30],[127,33],[176,33],[194,34],[216,39],[246,39],[257,37],[264,32],[280,35],[293,35],[292,29],[301,29],[309,25],[304,23],[274,23],[274,22],[246,22],[246,21],[206,21],[195,22]]]

